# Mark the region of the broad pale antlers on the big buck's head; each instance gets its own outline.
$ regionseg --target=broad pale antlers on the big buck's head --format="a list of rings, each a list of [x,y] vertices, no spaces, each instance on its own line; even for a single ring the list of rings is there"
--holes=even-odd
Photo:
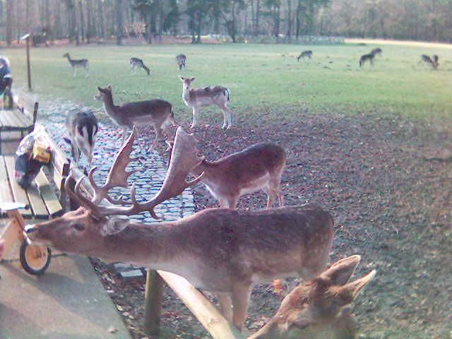
[[[134,132],[132,132],[129,139],[119,151],[114,161],[114,165],[112,166],[112,169],[110,169],[107,183],[104,186],[98,187],[96,184],[93,185],[93,171],[90,172],[90,183],[95,190],[93,199],[90,200],[81,194],[81,182],[85,177],[78,179],[75,191],[72,191],[69,188],[69,180],[66,179],[65,186],[69,196],[79,204],[85,206],[85,208],[88,208],[97,218],[101,218],[105,215],[134,215],[148,211],[153,218],[159,219],[154,212],[155,206],[169,198],[178,196],[187,187],[197,184],[203,176],[203,173],[201,173],[191,182],[186,181],[186,176],[191,169],[199,165],[202,159],[196,156],[196,141],[193,134],[188,134],[182,127],[179,127],[176,132],[176,138],[174,139],[173,156],[169,162],[167,175],[160,191],[158,191],[153,198],[145,203],[138,203],[136,201],[136,187],[135,184],[133,184],[131,188],[131,206],[99,206],[98,203],[102,201],[103,198],[107,198],[110,202],[113,201],[112,198],[107,195],[108,189],[111,189],[114,186],[126,187],[127,177],[129,177],[131,173],[136,172],[136,170],[131,172],[125,171],[126,165],[131,161],[129,155],[132,150],[133,139]],[[122,169],[119,171],[121,174],[115,175],[113,169]],[[114,201],[114,203],[124,202],[121,199],[121,201]]]

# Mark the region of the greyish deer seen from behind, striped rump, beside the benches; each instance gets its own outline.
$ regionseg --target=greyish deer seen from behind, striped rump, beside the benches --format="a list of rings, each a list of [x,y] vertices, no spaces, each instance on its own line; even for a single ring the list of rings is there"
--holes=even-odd
[[[88,167],[91,167],[98,129],[97,118],[93,112],[71,111],[68,113],[66,117],[68,137],[63,139],[71,145],[71,154],[77,164],[80,160],[80,153],[83,153],[88,161]]]

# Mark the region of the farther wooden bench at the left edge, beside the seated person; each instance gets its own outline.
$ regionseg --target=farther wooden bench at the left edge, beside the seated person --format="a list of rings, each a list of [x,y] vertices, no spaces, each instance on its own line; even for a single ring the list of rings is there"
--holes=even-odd
[[[20,139],[24,133],[32,131],[37,118],[37,108],[39,103],[32,100],[25,93],[20,93],[16,98],[16,107],[9,110],[0,110],[0,153],[1,153],[1,132],[18,131]]]

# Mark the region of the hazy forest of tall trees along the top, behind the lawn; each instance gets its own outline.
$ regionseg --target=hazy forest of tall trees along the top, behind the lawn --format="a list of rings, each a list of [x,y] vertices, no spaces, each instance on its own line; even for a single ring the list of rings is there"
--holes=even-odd
[[[452,0],[0,0],[0,40],[26,33],[49,41],[121,44],[140,35],[225,36],[232,42],[304,35],[452,42]],[[256,40],[265,41],[265,40]]]

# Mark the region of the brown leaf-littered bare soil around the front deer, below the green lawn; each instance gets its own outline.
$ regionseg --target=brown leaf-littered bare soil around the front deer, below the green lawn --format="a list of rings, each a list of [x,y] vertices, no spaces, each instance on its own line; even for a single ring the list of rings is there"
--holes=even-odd
[[[200,154],[215,160],[261,141],[282,145],[285,205],[311,201],[329,210],[335,218],[331,261],[360,254],[355,276],[377,270],[352,304],[359,338],[451,338],[451,126],[376,114],[299,114],[273,124],[237,117],[222,131],[220,112],[217,120],[194,130]],[[194,192],[197,210],[218,207],[204,186]],[[239,201],[239,208],[264,206],[262,192]],[[98,261],[95,269],[134,338],[145,338],[144,282],[121,280]],[[285,280],[282,294],[271,285],[254,288],[246,319],[251,332],[299,281]],[[161,338],[210,338],[167,287],[162,326]]]

